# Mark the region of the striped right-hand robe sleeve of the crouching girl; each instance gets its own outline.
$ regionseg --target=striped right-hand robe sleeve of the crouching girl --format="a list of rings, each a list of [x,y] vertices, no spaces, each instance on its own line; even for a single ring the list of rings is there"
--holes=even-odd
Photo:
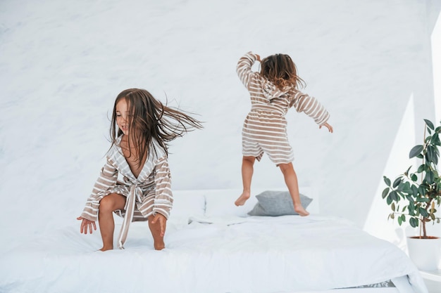
[[[173,193],[171,191],[171,176],[167,155],[161,157],[156,164],[154,181],[156,185],[156,195],[153,214],[159,213],[168,219],[173,207]]]

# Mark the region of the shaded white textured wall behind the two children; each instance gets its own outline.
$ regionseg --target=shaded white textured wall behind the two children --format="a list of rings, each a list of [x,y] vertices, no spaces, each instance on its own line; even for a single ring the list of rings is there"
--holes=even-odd
[[[417,139],[434,118],[439,11],[429,0],[1,1],[0,242],[75,223],[113,100],[130,87],[205,122],[170,146],[173,188],[240,188],[249,99],[235,65],[249,50],[290,54],[328,108],[334,134],[288,114],[294,168],[325,214],[363,226],[409,98]],[[256,164],[254,187],[283,185],[267,157]]]

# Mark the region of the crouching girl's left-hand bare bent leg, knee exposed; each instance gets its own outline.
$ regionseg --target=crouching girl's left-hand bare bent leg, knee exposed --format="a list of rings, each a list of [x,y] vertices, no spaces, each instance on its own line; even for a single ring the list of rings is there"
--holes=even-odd
[[[115,222],[113,221],[113,211],[124,209],[125,196],[111,193],[106,195],[99,202],[99,230],[103,239],[103,247],[99,250],[105,252],[113,249],[113,230],[115,230]]]

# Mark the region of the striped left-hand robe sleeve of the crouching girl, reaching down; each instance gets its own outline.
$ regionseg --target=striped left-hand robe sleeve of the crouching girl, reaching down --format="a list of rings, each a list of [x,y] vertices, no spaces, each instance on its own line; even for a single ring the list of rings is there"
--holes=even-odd
[[[104,167],[101,168],[101,172],[95,182],[92,194],[89,196],[86,202],[86,206],[82,211],[81,216],[90,221],[98,221],[98,209],[99,201],[105,196],[106,190],[116,185],[118,180],[118,170],[113,167],[111,161],[107,159]]]

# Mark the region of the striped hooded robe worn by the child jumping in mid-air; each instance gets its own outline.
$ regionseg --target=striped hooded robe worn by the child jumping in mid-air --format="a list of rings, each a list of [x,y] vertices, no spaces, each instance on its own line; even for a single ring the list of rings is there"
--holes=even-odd
[[[237,63],[237,75],[248,89],[251,98],[251,111],[242,129],[242,155],[260,160],[263,153],[276,165],[294,160],[294,152],[288,142],[285,115],[294,107],[304,112],[318,125],[325,124],[329,114],[316,98],[294,88],[280,91],[272,82],[251,71],[256,62],[254,53],[246,53]]]

